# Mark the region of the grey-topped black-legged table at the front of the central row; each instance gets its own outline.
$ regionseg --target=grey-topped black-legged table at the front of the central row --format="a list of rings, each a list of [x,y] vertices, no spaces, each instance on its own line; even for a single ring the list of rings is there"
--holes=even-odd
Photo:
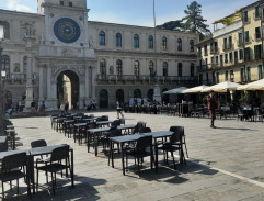
[[[158,138],[163,138],[163,137],[169,137],[173,134],[171,131],[160,131],[160,132],[151,132],[151,133],[140,133],[140,134],[134,134],[134,135],[124,135],[124,136],[117,136],[117,137],[110,137],[111,142],[111,150],[112,153],[112,143],[117,143],[120,144],[122,147],[122,169],[123,169],[123,175],[125,175],[125,161],[124,161],[124,144],[125,143],[131,143],[136,142],[138,138],[146,136],[146,135],[151,135],[154,139],[154,154],[156,154],[156,160],[154,160],[154,166],[156,166],[156,171],[158,171]],[[112,167],[114,167],[114,161],[112,160]]]

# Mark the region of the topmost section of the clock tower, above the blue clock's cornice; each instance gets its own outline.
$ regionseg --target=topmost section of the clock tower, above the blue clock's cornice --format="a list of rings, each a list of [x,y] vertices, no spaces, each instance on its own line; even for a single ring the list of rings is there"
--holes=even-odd
[[[87,0],[37,0],[38,14],[44,14],[45,7],[87,10]]]

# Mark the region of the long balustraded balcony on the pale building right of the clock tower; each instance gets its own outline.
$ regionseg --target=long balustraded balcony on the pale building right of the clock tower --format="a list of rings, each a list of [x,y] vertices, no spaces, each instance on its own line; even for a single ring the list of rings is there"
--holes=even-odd
[[[117,76],[117,75],[106,75],[106,76],[101,76],[97,75],[96,80],[99,82],[148,82],[148,83],[153,83],[156,81],[160,83],[169,82],[169,83],[196,83],[198,80],[197,76],[191,77],[191,76],[134,76],[134,75],[123,75],[123,76]]]

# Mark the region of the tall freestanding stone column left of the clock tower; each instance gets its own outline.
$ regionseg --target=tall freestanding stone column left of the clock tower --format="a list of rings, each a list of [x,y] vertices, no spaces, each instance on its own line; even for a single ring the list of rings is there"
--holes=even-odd
[[[25,99],[25,111],[30,111],[31,103],[33,101],[33,85],[32,85],[32,46],[35,43],[33,36],[24,37],[26,44],[26,57],[27,57],[27,72],[26,72],[26,99]]]

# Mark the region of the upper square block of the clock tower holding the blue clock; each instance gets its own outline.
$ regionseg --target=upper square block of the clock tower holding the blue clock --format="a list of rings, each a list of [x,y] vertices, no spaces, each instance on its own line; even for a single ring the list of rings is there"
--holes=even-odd
[[[88,45],[87,0],[38,0],[37,10],[45,15],[46,45]]]

